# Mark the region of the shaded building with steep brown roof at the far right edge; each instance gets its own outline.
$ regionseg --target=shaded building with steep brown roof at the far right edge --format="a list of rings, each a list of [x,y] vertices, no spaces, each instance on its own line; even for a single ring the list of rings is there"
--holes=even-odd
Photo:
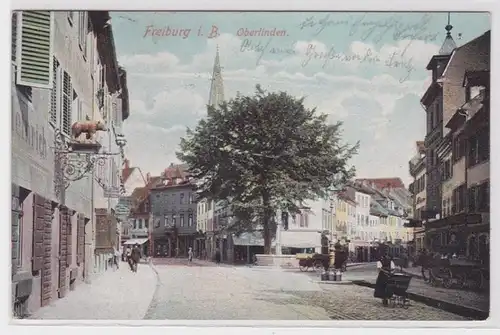
[[[442,210],[426,223],[433,250],[458,242],[454,252],[489,264],[490,32],[455,48],[440,74],[444,97],[439,143]]]

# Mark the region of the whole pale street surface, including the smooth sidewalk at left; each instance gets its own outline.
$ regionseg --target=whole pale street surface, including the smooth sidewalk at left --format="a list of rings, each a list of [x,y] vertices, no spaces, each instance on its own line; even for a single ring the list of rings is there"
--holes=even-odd
[[[31,319],[466,320],[413,301],[409,309],[386,308],[370,288],[318,284],[303,273],[182,259],[153,264],[132,273],[122,263]]]

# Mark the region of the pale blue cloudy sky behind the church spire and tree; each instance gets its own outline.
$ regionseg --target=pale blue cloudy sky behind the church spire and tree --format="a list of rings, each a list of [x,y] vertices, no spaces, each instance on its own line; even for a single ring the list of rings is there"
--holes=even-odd
[[[306,96],[308,107],[344,121],[347,141],[361,142],[352,162],[359,177],[408,184],[408,159],[425,135],[425,66],[443,43],[447,20],[448,13],[113,12],[118,58],[129,76],[128,156],[153,174],[175,161],[185,126],[206,113],[218,45],[226,98],[251,93],[257,83]],[[491,26],[486,13],[451,13],[451,24],[457,45]],[[209,39],[213,25],[220,36]],[[167,28],[191,31],[186,38],[151,36]],[[286,36],[237,36],[260,28]]]

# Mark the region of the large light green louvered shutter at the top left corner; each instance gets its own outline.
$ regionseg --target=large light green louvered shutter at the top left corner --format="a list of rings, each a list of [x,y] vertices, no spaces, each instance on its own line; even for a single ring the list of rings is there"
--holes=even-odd
[[[21,14],[20,52],[17,84],[52,88],[52,13],[23,11]]]

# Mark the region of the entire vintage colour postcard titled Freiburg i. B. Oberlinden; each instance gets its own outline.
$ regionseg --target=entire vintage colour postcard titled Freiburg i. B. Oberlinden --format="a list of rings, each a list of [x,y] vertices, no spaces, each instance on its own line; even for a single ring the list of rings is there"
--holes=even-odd
[[[485,320],[486,12],[12,12],[12,317]]]

